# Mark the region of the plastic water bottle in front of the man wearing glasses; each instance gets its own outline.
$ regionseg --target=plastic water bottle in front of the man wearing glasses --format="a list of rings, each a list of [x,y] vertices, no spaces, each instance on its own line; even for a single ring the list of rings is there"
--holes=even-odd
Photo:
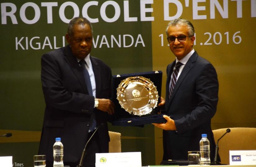
[[[202,134],[202,139],[199,142],[200,145],[200,165],[210,165],[210,142],[207,138],[207,134]]]

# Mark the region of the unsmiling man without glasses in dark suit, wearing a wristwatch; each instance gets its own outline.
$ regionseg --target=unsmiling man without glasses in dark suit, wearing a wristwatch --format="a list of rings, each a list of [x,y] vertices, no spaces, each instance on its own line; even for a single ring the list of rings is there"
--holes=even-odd
[[[64,165],[79,164],[86,141],[84,166],[95,166],[95,153],[108,152],[108,127],[114,106],[111,97],[111,69],[90,55],[92,25],[82,17],[68,25],[66,47],[42,56],[41,80],[46,108],[39,154],[53,166],[53,144],[60,137]],[[87,78],[86,78],[87,77]]]

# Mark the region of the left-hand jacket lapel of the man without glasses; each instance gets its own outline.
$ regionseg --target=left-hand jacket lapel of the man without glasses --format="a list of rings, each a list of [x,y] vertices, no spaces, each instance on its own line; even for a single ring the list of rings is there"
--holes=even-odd
[[[70,65],[72,71],[74,72],[75,76],[77,77],[82,89],[84,90],[85,94],[88,94],[88,90],[85,84],[85,80],[82,74],[82,70],[77,62],[77,59],[75,56],[72,54],[71,48],[69,45],[66,46],[64,55],[66,62]]]

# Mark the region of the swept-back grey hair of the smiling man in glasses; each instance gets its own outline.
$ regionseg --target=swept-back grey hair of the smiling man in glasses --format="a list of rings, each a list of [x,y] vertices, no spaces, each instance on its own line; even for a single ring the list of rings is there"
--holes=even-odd
[[[167,34],[167,36],[168,36],[167,30],[168,30],[169,26],[176,26],[176,25],[187,26],[188,30],[189,30],[189,35],[194,36],[195,30],[194,30],[193,24],[189,20],[181,19],[181,18],[171,20],[168,23],[167,28],[165,30],[165,33]]]

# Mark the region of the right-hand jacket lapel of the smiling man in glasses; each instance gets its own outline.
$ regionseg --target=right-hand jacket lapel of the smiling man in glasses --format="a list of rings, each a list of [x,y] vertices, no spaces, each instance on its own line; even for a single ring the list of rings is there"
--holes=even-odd
[[[168,108],[167,109],[169,109],[169,107],[171,106],[171,102],[172,102],[173,98],[175,98],[175,94],[176,94],[177,90],[179,89],[179,87],[181,86],[184,78],[187,76],[187,74],[189,73],[190,69],[193,68],[194,62],[196,62],[197,57],[198,57],[198,54],[195,51],[194,54],[191,55],[191,57],[189,58],[188,62],[185,64],[185,66],[184,66],[184,68],[183,68],[183,70],[181,72],[181,75],[179,76],[179,78],[178,78],[178,80],[177,80],[177,82],[175,84],[175,87],[174,87],[173,92],[171,94],[171,98],[168,101]],[[171,70],[171,73],[172,73],[172,70]],[[169,74],[170,77],[171,77],[171,73]],[[169,85],[168,85],[168,89],[169,89]]]

